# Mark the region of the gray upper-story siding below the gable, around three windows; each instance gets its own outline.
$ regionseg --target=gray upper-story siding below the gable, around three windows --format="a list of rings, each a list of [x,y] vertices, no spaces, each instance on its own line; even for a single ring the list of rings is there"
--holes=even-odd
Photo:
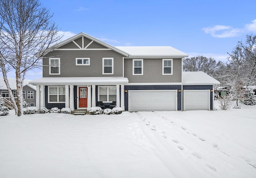
[[[55,50],[43,59],[43,77],[122,77],[123,56],[112,50]],[[49,59],[60,58],[60,75],[49,75]],[[76,66],[76,58],[90,58],[90,66]],[[114,58],[114,74],[102,75],[102,58]]]

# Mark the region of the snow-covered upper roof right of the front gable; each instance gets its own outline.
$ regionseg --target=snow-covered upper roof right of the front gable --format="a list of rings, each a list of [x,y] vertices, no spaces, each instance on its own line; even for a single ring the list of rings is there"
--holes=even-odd
[[[171,46],[116,46],[116,48],[127,52],[129,57],[164,57],[183,58],[188,54],[177,50]]]

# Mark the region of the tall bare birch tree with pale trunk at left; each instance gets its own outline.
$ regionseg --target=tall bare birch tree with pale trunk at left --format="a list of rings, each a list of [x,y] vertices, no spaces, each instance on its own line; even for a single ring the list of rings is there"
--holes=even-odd
[[[9,93],[18,116],[22,115],[26,72],[39,67],[42,55],[60,39],[51,18],[52,14],[39,0],[0,0],[0,67],[7,86],[6,69],[16,73],[17,106]]]

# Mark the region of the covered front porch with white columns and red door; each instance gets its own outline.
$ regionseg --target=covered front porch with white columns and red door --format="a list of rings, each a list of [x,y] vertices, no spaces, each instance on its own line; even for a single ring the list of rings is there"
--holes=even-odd
[[[36,106],[87,110],[93,106],[124,109],[124,84],[127,78],[116,77],[54,77],[32,80],[36,86]]]

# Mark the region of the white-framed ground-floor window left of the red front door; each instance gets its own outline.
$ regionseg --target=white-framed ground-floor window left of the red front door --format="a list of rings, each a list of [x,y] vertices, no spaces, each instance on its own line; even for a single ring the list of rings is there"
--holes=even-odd
[[[48,86],[48,103],[65,103],[65,86]]]

